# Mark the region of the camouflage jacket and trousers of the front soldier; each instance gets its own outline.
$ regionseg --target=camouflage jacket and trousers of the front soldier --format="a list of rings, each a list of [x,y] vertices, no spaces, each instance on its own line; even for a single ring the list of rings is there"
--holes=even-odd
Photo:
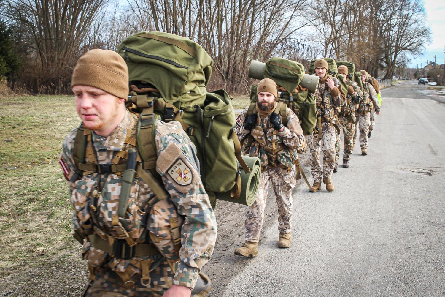
[[[98,163],[112,163],[113,157],[123,150],[128,139],[130,118],[134,120],[134,114],[126,111],[124,120],[106,138],[91,133],[91,142],[88,146],[92,146],[95,151]],[[216,221],[199,177],[199,166],[195,161],[196,148],[182,130],[181,124],[175,121],[170,123],[158,121],[155,130],[158,155],[156,171],[169,194],[167,200],[171,205],[171,209],[165,211],[171,213],[177,210],[177,213],[185,219],[180,235],[182,245],[179,252],[180,261],[174,268],[175,272],[160,253],[122,259],[93,246],[91,236],[99,235],[111,242],[118,237],[113,227],[110,227],[110,218],[117,213],[122,180],[119,175],[113,173],[84,172],[84,175],[79,176],[73,159],[76,134],[77,128],[65,138],[61,164],[69,183],[74,206],[74,227],[82,228],[89,234],[84,243],[83,258],[88,260],[90,272],[95,275],[96,280],[89,286],[85,296],[162,296],[172,285],[193,289],[200,269],[213,252]],[[170,169],[179,164],[182,165],[181,174],[186,172],[183,179],[179,178],[181,175],[177,171]],[[100,194],[96,195],[97,218],[91,215],[93,204],[91,197],[94,197],[91,192],[95,185]],[[156,230],[156,220],[153,220],[152,215],[150,214],[150,219],[147,218],[156,202],[158,198],[150,187],[141,177],[135,177],[134,185],[131,186],[127,215],[129,218],[134,218],[139,225],[126,228],[135,242],[151,243],[147,229],[159,231]],[[119,220],[124,221],[121,218]],[[146,220],[149,220],[148,223],[144,223]],[[162,238],[162,234],[159,236]],[[141,278],[144,263],[149,263],[150,269],[150,280],[145,283]],[[126,278],[134,281],[134,285],[129,283],[125,285]]]

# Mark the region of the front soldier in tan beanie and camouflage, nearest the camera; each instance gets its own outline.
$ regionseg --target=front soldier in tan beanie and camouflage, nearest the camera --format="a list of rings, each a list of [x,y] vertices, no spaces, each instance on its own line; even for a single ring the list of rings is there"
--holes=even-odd
[[[155,195],[154,184],[148,185],[141,176],[151,172],[138,169],[129,183],[128,203],[119,204],[126,185],[119,167],[122,162],[115,160],[124,159],[123,166],[128,166],[130,155],[136,161],[138,152],[134,130],[138,116],[125,108],[127,65],[113,51],[90,50],[77,61],[71,88],[85,130],[79,134],[76,128],[67,135],[60,163],[74,206],[75,237],[85,240],[83,258],[88,260],[90,281],[84,296],[190,296],[216,240],[214,212],[199,177],[193,143],[179,122],[158,121],[155,171],[160,178],[157,186],[163,184],[167,197],[161,200]],[[87,139],[86,164],[80,164],[81,168],[74,153],[78,135]],[[121,205],[127,206],[124,217],[117,215]],[[159,205],[166,207],[159,209]],[[168,217],[161,218],[161,212]],[[184,218],[183,224],[174,214]],[[170,227],[176,227],[178,233],[174,244],[180,248],[180,260],[176,264],[153,244],[152,238],[158,238],[156,244],[172,247],[168,244],[174,230],[161,234],[163,220],[170,220]],[[158,237],[152,237],[156,232]]]

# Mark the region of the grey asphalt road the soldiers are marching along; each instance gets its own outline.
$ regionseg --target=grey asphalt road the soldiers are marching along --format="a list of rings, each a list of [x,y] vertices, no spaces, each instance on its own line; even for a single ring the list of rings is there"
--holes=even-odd
[[[382,90],[368,155],[357,139],[334,192],[299,183],[291,248],[277,247],[273,191],[258,257],[233,255],[242,210],[218,222],[233,232],[206,265],[209,296],[445,296],[445,96],[427,88],[404,81]]]

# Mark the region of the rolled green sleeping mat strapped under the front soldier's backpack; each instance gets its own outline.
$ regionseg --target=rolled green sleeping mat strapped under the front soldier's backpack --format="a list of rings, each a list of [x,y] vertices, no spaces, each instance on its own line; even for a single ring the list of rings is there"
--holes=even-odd
[[[217,193],[215,192],[216,199],[235,202],[247,206],[251,206],[256,199],[259,187],[259,177],[261,175],[261,163],[256,157],[243,155],[243,160],[247,166],[251,168],[251,172],[245,173],[243,168],[238,164],[241,169],[241,195],[238,199],[231,197],[231,191]]]

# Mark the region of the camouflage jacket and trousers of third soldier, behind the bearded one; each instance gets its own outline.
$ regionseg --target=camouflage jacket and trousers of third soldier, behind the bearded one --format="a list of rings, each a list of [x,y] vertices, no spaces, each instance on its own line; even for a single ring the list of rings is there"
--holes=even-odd
[[[321,117],[321,127],[319,120],[314,133],[308,137],[308,145],[311,149],[310,160],[312,163],[312,178],[314,182],[321,183],[322,175],[325,179],[331,179],[336,161],[337,132],[332,125],[335,117],[335,108],[344,104],[345,98],[340,93],[340,81],[332,77],[336,88],[330,90],[328,85],[320,80],[317,98],[317,115]],[[319,131],[321,129],[321,137]],[[323,170],[320,165],[320,151],[323,151]]]

